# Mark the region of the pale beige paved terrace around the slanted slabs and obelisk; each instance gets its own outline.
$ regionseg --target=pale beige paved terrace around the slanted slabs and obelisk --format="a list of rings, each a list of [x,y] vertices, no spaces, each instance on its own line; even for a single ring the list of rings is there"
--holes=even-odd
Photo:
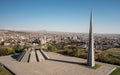
[[[108,75],[116,66],[100,63],[97,70],[79,65],[86,60],[76,57],[63,56],[46,52],[49,60],[42,62],[18,62],[12,56],[0,57],[0,62],[12,70],[16,75]]]

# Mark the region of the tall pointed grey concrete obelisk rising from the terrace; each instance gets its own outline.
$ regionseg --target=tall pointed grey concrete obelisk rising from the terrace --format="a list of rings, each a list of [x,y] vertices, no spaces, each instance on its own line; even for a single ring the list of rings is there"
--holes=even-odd
[[[88,66],[95,66],[95,58],[94,58],[94,40],[93,40],[93,29],[92,29],[92,11],[90,14],[90,29],[89,29],[89,44],[88,44],[88,58],[87,58]]]

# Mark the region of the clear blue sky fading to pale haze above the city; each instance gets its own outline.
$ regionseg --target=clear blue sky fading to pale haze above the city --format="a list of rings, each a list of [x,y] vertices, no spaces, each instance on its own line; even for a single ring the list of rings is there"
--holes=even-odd
[[[93,9],[95,33],[120,34],[119,2],[109,0],[1,0],[0,29],[85,32]]]

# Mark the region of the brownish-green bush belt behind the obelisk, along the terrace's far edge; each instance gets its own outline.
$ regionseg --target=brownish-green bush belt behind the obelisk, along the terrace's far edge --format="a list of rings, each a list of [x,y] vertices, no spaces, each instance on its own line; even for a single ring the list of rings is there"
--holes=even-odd
[[[87,58],[87,51],[81,48],[75,48],[75,47],[68,47],[64,48],[63,50],[57,51],[57,53],[69,55],[69,56],[75,56],[79,58]],[[103,51],[95,54],[95,59],[97,61],[120,65],[120,52],[110,52],[110,51]]]

